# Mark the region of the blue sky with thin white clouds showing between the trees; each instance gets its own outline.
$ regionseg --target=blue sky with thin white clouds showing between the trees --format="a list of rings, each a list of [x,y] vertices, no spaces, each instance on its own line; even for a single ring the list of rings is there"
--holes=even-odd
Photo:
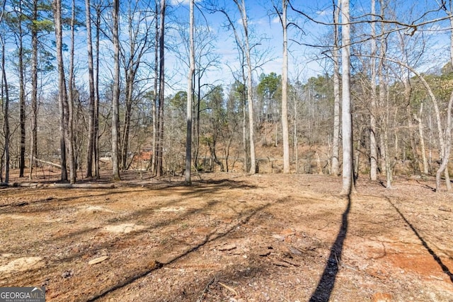
[[[184,3],[176,0],[168,0],[168,4],[171,7],[168,11],[171,14],[167,17],[167,24],[171,25],[167,30],[167,40],[172,42],[173,45],[181,46],[180,38],[178,33],[174,29],[176,21],[180,23],[182,28],[188,26],[188,0],[184,0]],[[206,0],[197,1],[198,6],[202,6]],[[218,0],[225,1],[226,8],[231,13],[231,18],[236,24],[237,28],[241,28],[241,21],[237,8],[234,6],[231,0]],[[280,2],[280,0],[278,0]],[[331,19],[332,1],[321,0],[321,1],[302,1],[293,0],[294,6],[298,9],[309,14],[312,18],[316,18],[318,21],[329,22]],[[83,6],[80,1],[81,6]],[[415,14],[420,16],[426,9],[426,6],[435,6],[435,1],[425,0],[395,0],[394,9],[401,13],[401,16],[408,16],[406,11],[415,10]],[[351,13],[352,16],[360,16],[364,13],[369,12],[369,1],[351,0]],[[246,8],[248,11],[249,25],[253,33],[252,42],[260,42],[260,45],[256,47],[258,52],[266,52],[265,64],[260,66],[259,69],[253,74],[253,78],[258,79],[259,74],[275,72],[281,73],[282,70],[282,27],[276,16],[270,16],[269,13],[272,11],[272,1],[257,0],[251,1],[246,0]],[[306,44],[323,44],[328,43],[326,35],[328,33],[328,26],[318,25],[312,21],[307,21],[306,18],[298,15],[297,13],[288,11],[289,21],[297,23],[302,31],[298,28],[289,28],[289,38],[294,38],[298,42],[304,42]],[[429,18],[436,18],[439,16],[445,16],[445,13],[432,13]],[[197,25],[199,29],[209,28],[210,35],[215,37],[212,42],[212,49],[210,53],[219,57],[219,64],[217,67],[212,67],[203,79],[203,83],[222,83],[228,86],[234,81],[231,71],[239,70],[238,52],[236,49],[236,42],[233,37],[231,30],[226,30],[222,25],[226,22],[226,18],[221,13],[210,14],[206,11],[200,13],[196,12],[195,18],[197,19]],[[206,19],[205,19],[206,18]],[[398,17],[399,18],[399,17]],[[435,25],[436,28],[445,28],[445,23],[438,23]],[[84,28],[81,28],[77,33],[79,42],[76,43],[76,61],[78,62],[78,79],[86,79],[86,33]],[[427,70],[430,66],[428,64],[442,64],[447,62],[445,55],[449,50],[449,40],[446,31],[443,32],[430,32],[425,35],[430,36],[432,39],[427,52],[431,51],[432,58],[428,60],[422,69]],[[69,38],[69,33],[66,33],[66,39]],[[53,40],[52,33],[50,34],[50,40]],[[179,39],[179,40],[178,40]],[[324,40],[323,43],[319,41]],[[327,40],[327,42],[325,42]],[[68,40],[66,40],[68,42]],[[105,57],[101,64],[101,72],[105,75],[104,81],[111,79],[110,68],[112,66],[109,55],[109,51],[112,50],[111,42],[108,39],[103,40],[103,46],[105,47]],[[182,49],[183,47],[180,47]],[[289,79],[294,81],[299,78],[300,81],[305,81],[310,76],[316,76],[317,74],[323,74],[326,72],[326,68],[330,71],[330,67],[326,64],[326,60],[316,59],[319,57],[319,49],[314,47],[307,47],[299,45],[297,42],[289,41]],[[150,54],[149,62],[154,62],[154,54]],[[439,57],[442,56],[442,57]],[[428,56],[429,57],[429,56]],[[263,62],[261,60],[261,62]],[[185,60],[188,61],[187,59]],[[445,64],[445,63],[444,63]],[[424,71],[422,70],[422,71]],[[179,90],[185,90],[186,88],[186,77],[188,67],[185,63],[177,59],[174,52],[168,51],[166,53],[166,74],[168,86],[166,88],[166,95],[176,93]],[[16,76],[13,76],[16,78]],[[152,81],[149,81],[150,86]],[[52,89],[52,88],[51,88]],[[56,89],[53,88],[53,89]]]

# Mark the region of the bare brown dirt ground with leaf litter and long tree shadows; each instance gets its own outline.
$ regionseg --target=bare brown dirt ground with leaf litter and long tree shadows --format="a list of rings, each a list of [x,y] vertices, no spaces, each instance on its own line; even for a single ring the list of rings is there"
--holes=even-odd
[[[453,301],[453,194],[432,179],[361,178],[342,197],[326,175],[69,189],[51,174],[0,188],[0,286],[45,286],[46,301]]]

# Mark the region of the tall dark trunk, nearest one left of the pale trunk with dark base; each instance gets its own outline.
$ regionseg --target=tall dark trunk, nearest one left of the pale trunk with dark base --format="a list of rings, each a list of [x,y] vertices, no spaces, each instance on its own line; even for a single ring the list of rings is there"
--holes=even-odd
[[[166,0],[161,0],[161,24],[159,26],[159,130],[156,175],[164,174],[163,151],[164,151],[164,98],[165,98],[165,10]]]

